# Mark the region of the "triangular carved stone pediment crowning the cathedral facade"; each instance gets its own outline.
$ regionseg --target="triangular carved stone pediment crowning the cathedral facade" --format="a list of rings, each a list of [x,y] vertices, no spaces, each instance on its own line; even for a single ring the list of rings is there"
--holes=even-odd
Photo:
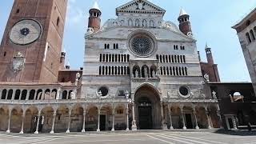
[[[166,13],[166,10],[159,6],[154,5],[154,3],[147,0],[134,0],[128,2],[116,9],[117,15],[119,13],[140,13],[140,14],[162,14]]]

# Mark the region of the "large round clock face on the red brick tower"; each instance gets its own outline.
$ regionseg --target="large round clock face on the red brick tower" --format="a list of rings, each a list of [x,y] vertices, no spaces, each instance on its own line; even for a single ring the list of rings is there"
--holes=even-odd
[[[39,22],[25,19],[17,22],[10,30],[10,41],[17,45],[28,45],[38,40],[42,34]]]

